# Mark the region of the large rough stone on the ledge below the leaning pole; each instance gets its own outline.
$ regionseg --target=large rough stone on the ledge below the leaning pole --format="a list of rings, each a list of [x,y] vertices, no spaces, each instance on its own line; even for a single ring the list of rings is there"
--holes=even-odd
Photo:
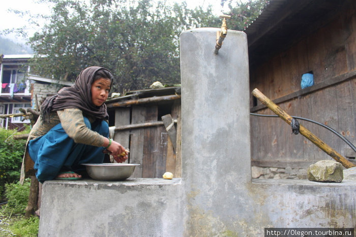
[[[340,183],[343,180],[342,165],[333,160],[320,160],[309,166],[308,180]]]

